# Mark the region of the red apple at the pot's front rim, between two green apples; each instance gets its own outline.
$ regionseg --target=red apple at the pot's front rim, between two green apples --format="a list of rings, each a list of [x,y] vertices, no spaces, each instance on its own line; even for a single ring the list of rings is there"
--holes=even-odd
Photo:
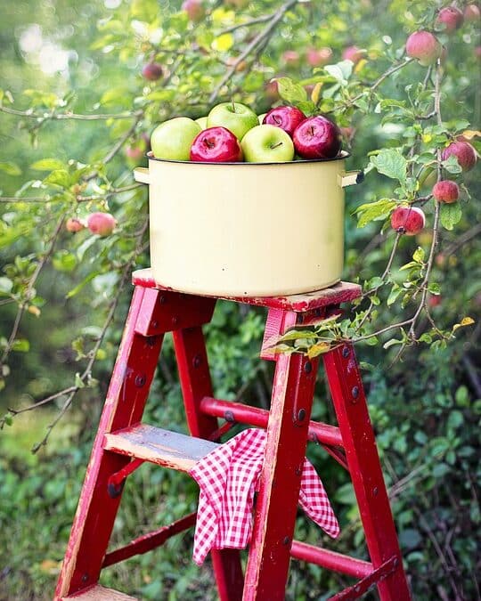
[[[235,163],[242,160],[240,143],[225,127],[208,127],[192,142],[191,160]]]

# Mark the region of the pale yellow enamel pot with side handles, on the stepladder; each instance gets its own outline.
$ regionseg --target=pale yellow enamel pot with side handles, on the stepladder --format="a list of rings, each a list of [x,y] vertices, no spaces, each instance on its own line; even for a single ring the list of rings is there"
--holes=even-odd
[[[344,190],[362,172],[331,160],[197,163],[149,157],[151,269],[163,286],[215,296],[328,288],[344,264]]]

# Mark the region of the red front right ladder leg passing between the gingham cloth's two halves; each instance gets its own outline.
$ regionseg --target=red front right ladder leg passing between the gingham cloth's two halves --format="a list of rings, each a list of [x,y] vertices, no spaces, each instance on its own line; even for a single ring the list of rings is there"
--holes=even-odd
[[[295,318],[289,312],[285,322]],[[276,360],[244,601],[285,597],[317,364],[301,354],[281,354]]]

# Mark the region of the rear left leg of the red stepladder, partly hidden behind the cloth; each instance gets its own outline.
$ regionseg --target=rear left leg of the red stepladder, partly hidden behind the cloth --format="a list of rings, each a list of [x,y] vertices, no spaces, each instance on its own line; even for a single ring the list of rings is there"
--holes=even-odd
[[[205,396],[212,396],[202,329],[175,330],[173,337],[189,430],[192,436],[208,438],[216,432],[218,424],[216,418],[200,411],[200,401]],[[240,552],[236,549],[212,549],[211,557],[219,598],[221,601],[240,601],[244,583]]]

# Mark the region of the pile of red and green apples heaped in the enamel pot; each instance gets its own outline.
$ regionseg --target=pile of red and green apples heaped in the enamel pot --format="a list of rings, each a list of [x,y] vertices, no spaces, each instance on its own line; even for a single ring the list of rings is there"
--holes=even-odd
[[[155,158],[204,163],[285,163],[336,158],[341,134],[328,118],[280,106],[265,115],[240,102],[217,104],[207,117],[164,121],[151,135]]]

